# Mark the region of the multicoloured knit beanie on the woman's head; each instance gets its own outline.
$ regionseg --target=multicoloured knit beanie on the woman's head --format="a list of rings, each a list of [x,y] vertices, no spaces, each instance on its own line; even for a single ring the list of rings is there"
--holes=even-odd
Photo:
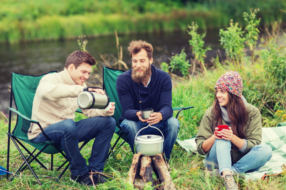
[[[221,75],[215,84],[215,89],[220,88],[233,95],[241,97],[242,79],[238,72],[228,71]]]

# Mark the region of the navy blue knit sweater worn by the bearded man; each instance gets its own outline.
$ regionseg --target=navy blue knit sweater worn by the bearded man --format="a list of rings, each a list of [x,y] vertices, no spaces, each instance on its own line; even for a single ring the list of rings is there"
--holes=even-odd
[[[172,109],[172,81],[168,73],[156,69],[151,65],[151,81],[145,87],[143,83],[135,83],[131,78],[132,69],[120,74],[116,81],[116,90],[122,116],[124,119],[138,121],[136,112],[140,109],[153,108],[154,112],[160,112],[163,121],[173,116]]]

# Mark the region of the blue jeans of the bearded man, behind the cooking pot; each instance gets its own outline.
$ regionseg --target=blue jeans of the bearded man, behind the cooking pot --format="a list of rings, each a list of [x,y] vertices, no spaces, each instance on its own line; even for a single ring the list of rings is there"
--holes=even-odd
[[[124,119],[120,124],[120,127],[122,128],[123,132],[127,136],[127,140],[128,140],[129,146],[130,146],[133,154],[135,153],[135,151],[134,151],[135,136],[140,129],[142,129],[143,127],[146,127],[146,126],[148,126],[148,123],[143,123],[141,121],[132,121],[132,120],[128,120],[128,119]],[[179,132],[179,128],[180,128],[179,121],[176,118],[171,117],[171,118],[167,119],[166,121],[156,123],[152,126],[157,127],[158,129],[160,129],[162,131],[162,133],[164,135],[163,152],[165,153],[165,157],[168,160],[170,160],[170,154],[171,154],[171,151],[173,149],[173,146],[174,146],[174,143],[176,141],[176,138],[177,138],[177,135]],[[151,127],[148,127],[146,129],[140,131],[138,136],[144,135],[144,134],[156,134],[156,135],[162,136],[160,131],[158,131],[155,128],[151,128]]]

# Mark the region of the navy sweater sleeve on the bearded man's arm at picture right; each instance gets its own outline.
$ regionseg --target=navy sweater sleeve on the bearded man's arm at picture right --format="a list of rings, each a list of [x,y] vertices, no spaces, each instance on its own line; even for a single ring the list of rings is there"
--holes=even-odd
[[[169,119],[173,116],[173,109],[172,109],[172,81],[171,77],[168,73],[165,73],[163,78],[163,83],[161,87],[161,94],[160,94],[160,113],[162,114],[163,121]]]

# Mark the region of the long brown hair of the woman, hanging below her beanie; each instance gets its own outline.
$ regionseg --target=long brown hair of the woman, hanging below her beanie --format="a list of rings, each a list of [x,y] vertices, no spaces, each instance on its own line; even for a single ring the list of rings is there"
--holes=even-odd
[[[231,120],[231,130],[233,134],[239,138],[245,138],[245,133],[243,131],[243,126],[248,120],[248,115],[246,111],[245,104],[242,99],[227,92],[229,97],[229,103],[227,107],[227,114]],[[213,103],[212,110],[215,113],[214,127],[222,124],[221,107],[219,106],[219,101],[217,99],[217,92],[215,93],[215,101]]]

